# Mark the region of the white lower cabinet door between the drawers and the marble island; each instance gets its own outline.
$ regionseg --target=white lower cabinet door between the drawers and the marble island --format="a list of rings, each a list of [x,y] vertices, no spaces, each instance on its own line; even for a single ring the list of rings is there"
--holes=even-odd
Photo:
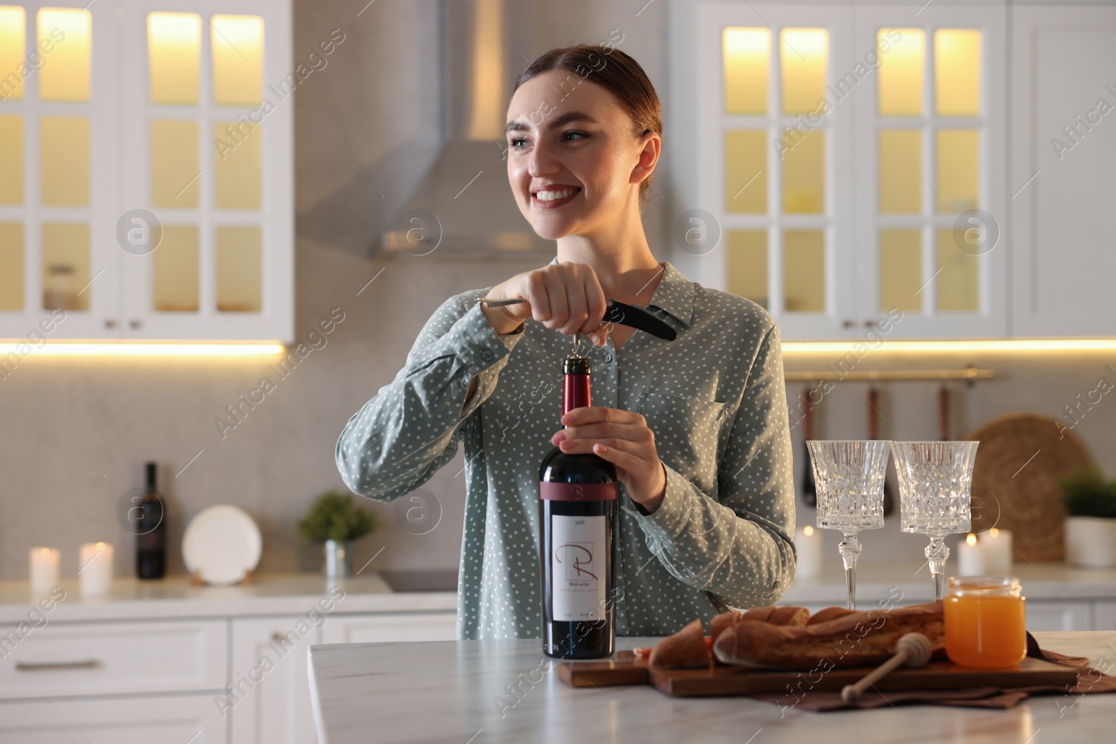
[[[219,707],[232,716],[233,742],[314,743],[307,649],[319,637],[305,616],[232,621],[232,690]]]

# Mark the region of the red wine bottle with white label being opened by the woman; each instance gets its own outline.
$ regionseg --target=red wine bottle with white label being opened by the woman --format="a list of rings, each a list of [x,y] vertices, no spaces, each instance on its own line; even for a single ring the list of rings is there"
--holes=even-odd
[[[562,374],[562,415],[591,405],[588,359],[566,359]],[[616,642],[616,466],[555,447],[539,468],[539,496],[542,651],[562,659],[609,656]]]

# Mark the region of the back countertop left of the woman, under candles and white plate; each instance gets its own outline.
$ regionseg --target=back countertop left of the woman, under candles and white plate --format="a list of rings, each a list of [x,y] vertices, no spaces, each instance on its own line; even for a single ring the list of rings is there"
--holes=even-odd
[[[343,579],[337,586],[345,595],[336,601],[335,613],[458,609],[456,592],[394,592],[377,573]],[[235,587],[196,587],[185,576],[158,581],[118,578],[108,595],[97,598],[83,597],[76,579],[64,579],[61,588],[66,598],[51,610],[51,622],[302,615],[329,596],[330,584],[319,573],[262,573]],[[26,620],[33,601],[27,581],[0,581],[0,624]]]

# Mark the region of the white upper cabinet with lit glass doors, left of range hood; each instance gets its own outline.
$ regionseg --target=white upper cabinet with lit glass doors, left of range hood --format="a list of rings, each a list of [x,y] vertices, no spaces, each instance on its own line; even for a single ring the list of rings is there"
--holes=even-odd
[[[0,338],[292,340],[290,1],[35,0],[0,38],[49,61],[0,96]]]

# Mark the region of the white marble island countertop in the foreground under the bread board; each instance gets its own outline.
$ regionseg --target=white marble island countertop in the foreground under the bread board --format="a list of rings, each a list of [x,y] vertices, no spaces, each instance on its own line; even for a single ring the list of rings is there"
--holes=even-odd
[[[1116,631],[1035,636],[1043,648],[1116,663]],[[617,639],[620,649],[650,642]],[[810,713],[743,697],[674,698],[646,685],[574,689],[552,663],[538,640],[311,646],[318,741],[1042,744],[1109,741],[1116,721],[1116,695],[1033,697],[1008,711]]]

